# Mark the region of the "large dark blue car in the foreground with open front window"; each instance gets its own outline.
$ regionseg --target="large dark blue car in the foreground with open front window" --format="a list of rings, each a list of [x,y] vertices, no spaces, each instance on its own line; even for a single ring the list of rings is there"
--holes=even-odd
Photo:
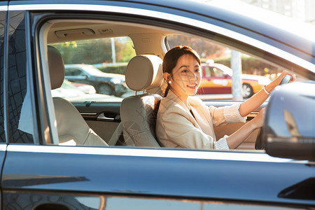
[[[0,1],[1,209],[314,209],[315,29],[239,4]],[[151,85],[151,64],[180,44],[202,59],[238,50],[298,81],[277,87],[248,115],[247,122],[266,108],[262,132],[234,151],[160,147],[159,90],[111,101],[52,97],[64,83],[64,63],[146,55],[155,62],[130,62],[127,69],[138,71],[126,71],[126,84],[136,76],[134,85]],[[242,125],[215,127],[216,139]]]

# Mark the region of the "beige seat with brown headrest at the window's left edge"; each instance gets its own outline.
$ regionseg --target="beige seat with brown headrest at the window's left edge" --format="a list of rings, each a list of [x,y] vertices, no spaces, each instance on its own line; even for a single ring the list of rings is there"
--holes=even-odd
[[[60,52],[52,46],[48,46],[48,66],[51,88],[60,87],[64,81],[64,61]],[[52,101],[60,145],[107,146],[70,102],[59,97],[52,98]]]

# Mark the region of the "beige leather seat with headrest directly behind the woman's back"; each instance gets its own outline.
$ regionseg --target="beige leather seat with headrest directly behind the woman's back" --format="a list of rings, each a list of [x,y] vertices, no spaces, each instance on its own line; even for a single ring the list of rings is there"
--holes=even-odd
[[[131,90],[144,91],[162,84],[162,59],[155,55],[137,55],[127,65],[126,83]],[[155,137],[159,94],[139,94],[123,99],[120,117],[126,146],[160,147]]]

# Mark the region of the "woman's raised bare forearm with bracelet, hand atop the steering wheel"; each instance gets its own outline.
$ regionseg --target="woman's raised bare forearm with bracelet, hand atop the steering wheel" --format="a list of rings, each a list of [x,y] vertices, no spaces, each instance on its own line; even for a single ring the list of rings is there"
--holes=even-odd
[[[267,92],[272,92],[274,87],[278,86],[281,83],[281,80],[287,74],[291,75],[293,80],[295,81],[295,75],[288,73],[288,71],[282,71],[281,75],[278,76],[275,80],[273,80],[269,85],[266,85]],[[260,90],[258,93],[254,94],[251,98],[241,103],[239,106],[239,113],[242,117],[248,116],[249,113],[258,109],[258,107],[265,102],[265,100],[269,97],[269,95],[265,92],[265,90]]]

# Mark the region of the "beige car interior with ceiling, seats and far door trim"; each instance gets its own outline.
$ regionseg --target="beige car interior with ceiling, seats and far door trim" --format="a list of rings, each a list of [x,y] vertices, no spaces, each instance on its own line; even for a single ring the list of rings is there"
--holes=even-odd
[[[185,34],[218,43],[210,37],[188,34],[172,27],[106,20],[49,20],[41,27],[39,34],[43,71],[49,69],[52,90],[62,85],[64,62],[60,52],[51,45],[115,37],[130,37],[132,40],[136,56],[130,59],[125,73],[131,94],[123,98],[122,102],[121,100],[68,102],[60,97],[54,97],[51,102],[50,100],[46,102],[50,104],[48,107],[53,107],[49,112],[55,114],[57,122],[55,129],[59,142],[54,144],[72,146],[160,147],[155,137],[155,117],[158,101],[162,98],[159,93],[163,85],[162,58],[169,48],[167,36]],[[225,106],[235,102],[214,99],[204,103]],[[254,118],[258,112],[259,109],[251,113],[247,121]],[[51,122],[53,120],[50,121],[53,125]],[[216,138],[220,139],[225,134],[230,135],[242,125],[244,124],[233,123],[215,127]],[[237,149],[254,151],[258,132],[258,130],[253,132]]]

